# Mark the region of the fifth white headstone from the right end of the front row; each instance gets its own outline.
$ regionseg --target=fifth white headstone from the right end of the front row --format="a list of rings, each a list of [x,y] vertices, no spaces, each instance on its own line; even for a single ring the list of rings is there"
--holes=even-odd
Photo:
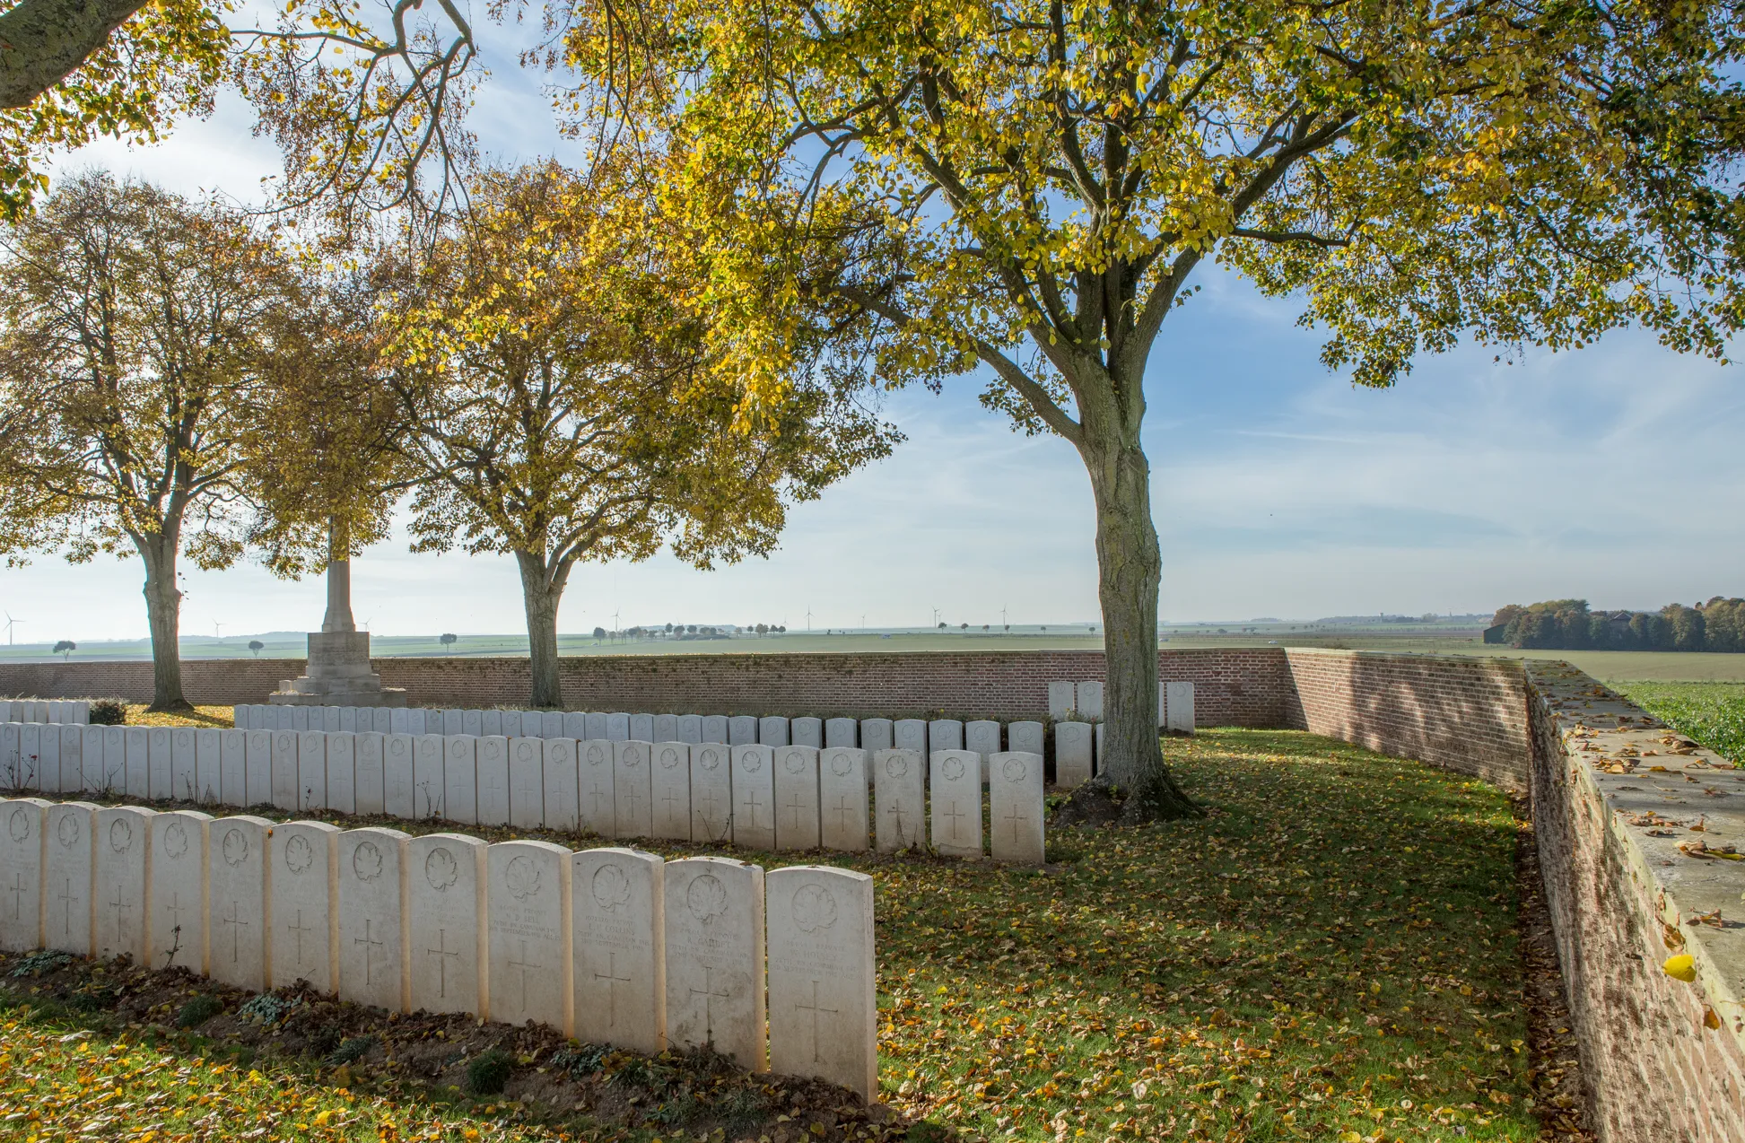
[[[424,834],[407,843],[407,951],[412,1010],[485,1010],[485,850],[464,834]],[[550,1017],[548,1017],[550,1023]]]

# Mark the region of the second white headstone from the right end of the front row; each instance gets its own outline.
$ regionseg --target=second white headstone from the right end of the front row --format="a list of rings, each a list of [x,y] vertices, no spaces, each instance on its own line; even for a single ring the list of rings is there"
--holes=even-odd
[[[763,869],[693,857],[667,862],[663,881],[667,1044],[766,1071]]]

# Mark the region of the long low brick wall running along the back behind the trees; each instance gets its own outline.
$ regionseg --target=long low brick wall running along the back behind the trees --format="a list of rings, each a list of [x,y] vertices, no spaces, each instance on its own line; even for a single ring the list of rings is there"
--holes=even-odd
[[[1194,682],[1201,726],[1284,726],[1279,647],[1164,649],[1160,679]],[[525,658],[379,658],[384,686],[424,707],[525,705]],[[846,717],[1037,719],[1049,682],[1103,681],[1101,651],[888,651],[859,654],[600,654],[558,660],[572,710]],[[183,660],[194,703],[263,703],[304,660]],[[152,665],[5,663],[0,695],[152,700]]]

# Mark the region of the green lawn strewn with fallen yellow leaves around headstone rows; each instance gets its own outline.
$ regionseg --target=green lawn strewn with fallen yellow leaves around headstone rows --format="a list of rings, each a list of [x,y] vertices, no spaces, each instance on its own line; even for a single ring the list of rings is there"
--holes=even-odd
[[[925,855],[738,853],[766,867],[825,860],[878,879],[879,1084],[883,1101],[918,1124],[909,1138],[1537,1138],[1508,797],[1297,731],[1209,731],[1166,750],[1211,808],[1206,820],[1056,832],[1042,871]],[[260,1059],[253,1068],[270,1092],[253,1091],[246,1070],[215,1073],[216,1052],[122,1064],[113,1040],[61,1042],[51,1033],[65,1024],[51,1024],[16,1002],[0,1007],[10,1064],[0,1068],[0,1122],[37,1115],[21,1138],[66,1138],[79,1101],[56,1092],[75,1073],[79,1085],[110,1084],[131,1101],[174,1089],[178,1101],[234,1106],[234,1122],[257,1122],[250,1099],[288,1101],[286,1117],[253,1138],[410,1138],[414,1122],[429,1133],[421,1138],[454,1140],[682,1134],[644,1119],[649,1108],[626,1122],[564,1126],[471,1105],[396,1110],[366,1096],[372,1077],[356,1066],[346,1075],[356,1089],[349,1110],[316,1124],[314,1110],[293,1110],[328,1106],[332,1087],[307,1066],[279,1087]],[[37,1063],[21,1059],[26,1045]],[[394,1115],[407,1131],[382,1134]],[[804,1134],[797,1122],[782,1127]],[[764,1138],[782,1143],[782,1127]],[[174,1138],[201,1136],[166,1129],[154,1143]]]

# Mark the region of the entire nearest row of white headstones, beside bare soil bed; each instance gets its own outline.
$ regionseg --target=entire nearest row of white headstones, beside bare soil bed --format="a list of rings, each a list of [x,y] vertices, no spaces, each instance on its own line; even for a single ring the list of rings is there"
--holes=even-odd
[[[824,866],[19,797],[0,948],[878,1084],[872,879]]]

